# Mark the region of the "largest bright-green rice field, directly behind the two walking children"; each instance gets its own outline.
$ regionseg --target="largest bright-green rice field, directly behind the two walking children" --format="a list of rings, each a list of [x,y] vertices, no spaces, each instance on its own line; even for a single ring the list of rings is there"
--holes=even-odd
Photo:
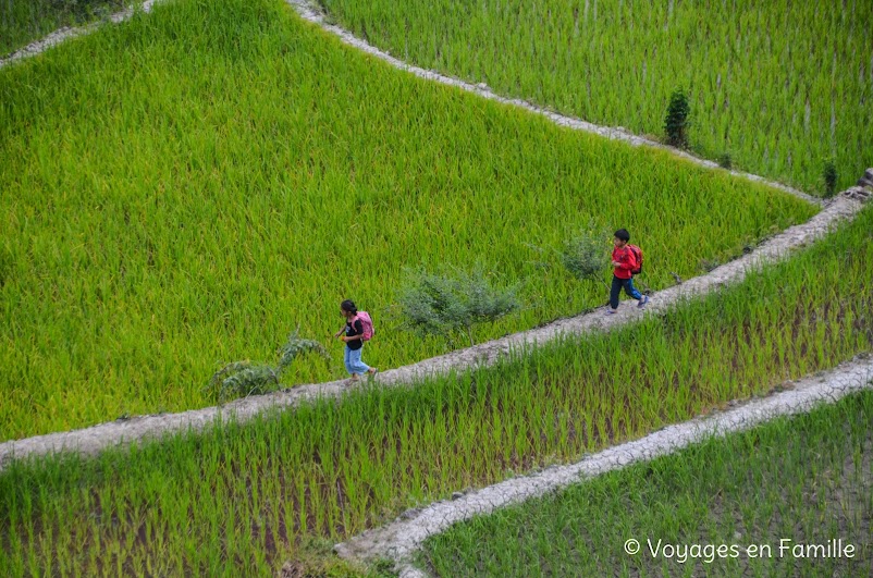
[[[280,0],[162,2],[0,71],[0,440],[211,405],[298,324],[333,360],[284,383],[344,377],[343,298],[369,365],[445,353],[389,316],[406,266],[522,283],[480,342],[603,304],[532,247],[579,223],[629,229],[656,290],[816,210],[417,79]]]

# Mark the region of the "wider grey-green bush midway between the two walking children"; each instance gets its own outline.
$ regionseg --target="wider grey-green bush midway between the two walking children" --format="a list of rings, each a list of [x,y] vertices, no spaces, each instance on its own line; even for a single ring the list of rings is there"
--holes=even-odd
[[[496,288],[480,267],[472,272],[407,272],[397,306],[407,329],[451,335],[464,331],[475,345],[472,325],[509,315],[521,307],[517,286]]]

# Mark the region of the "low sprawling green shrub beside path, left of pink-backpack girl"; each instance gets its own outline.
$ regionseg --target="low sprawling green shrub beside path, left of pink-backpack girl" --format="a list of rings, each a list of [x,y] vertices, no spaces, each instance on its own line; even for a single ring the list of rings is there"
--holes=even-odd
[[[317,341],[299,337],[299,330],[297,328],[288,335],[285,345],[279,349],[276,367],[248,360],[234,361],[216,371],[205,391],[218,398],[220,404],[230,398],[261,395],[279,389],[282,373],[297,356],[316,352],[325,358],[330,357],[324,346]]]

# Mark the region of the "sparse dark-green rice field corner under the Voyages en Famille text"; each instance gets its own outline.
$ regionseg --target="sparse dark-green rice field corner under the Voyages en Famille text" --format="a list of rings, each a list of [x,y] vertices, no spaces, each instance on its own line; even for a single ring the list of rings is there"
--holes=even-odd
[[[452,577],[868,576],[872,425],[865,391],[456,525],[420,562]]]

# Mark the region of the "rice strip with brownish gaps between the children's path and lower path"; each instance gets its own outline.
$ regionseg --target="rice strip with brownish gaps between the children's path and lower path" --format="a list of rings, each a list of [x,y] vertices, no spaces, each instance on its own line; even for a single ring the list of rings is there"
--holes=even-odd
[[[742,284],[618,331],[130,453],[13,463],[0,574],[263,575],[306,557],[305,537],[342,540],[870,351],[858,287],[873,286],[872,260],[869,208]]]

